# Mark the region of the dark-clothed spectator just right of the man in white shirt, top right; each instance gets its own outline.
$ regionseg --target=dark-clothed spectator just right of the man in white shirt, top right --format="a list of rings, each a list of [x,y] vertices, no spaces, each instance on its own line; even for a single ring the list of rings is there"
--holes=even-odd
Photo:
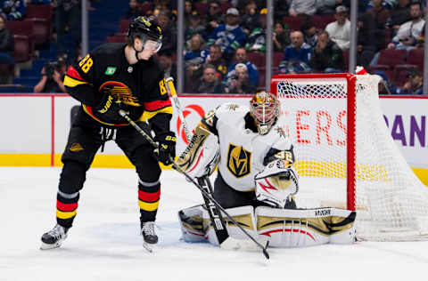
[[[371,44],[375,46],[374,51],[379,51],[381,49],[385,48],[385,35],[386,35],[386,22],[390,17],[390,9],[386,7],[383,0],[373,0],[372,6],[370,9],[367,10],[367,14],[369,14],[374,21],[374,25],[372,25],[367,17],[362,18],[362,21],[364,21],[363,28],[367,29],[374,29],[374,36],[366,37],[366,41],[370,41]]]

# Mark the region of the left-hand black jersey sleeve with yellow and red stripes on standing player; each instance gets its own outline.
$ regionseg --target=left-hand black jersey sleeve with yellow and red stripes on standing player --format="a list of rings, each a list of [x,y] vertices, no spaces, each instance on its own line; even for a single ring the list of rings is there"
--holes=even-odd
[[[97,60],[88,53],[85,58],[71,65],[64,77],[64,86],[70,96],[87,106],[95,106],[98,92],[94,88]]]

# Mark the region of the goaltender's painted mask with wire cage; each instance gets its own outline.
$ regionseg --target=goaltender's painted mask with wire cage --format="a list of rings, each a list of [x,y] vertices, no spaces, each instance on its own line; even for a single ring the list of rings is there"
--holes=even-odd
[[[271,92],[258,92],[250,100],[250,108],[259,134],[267,134],[279,116],[279,100]]]

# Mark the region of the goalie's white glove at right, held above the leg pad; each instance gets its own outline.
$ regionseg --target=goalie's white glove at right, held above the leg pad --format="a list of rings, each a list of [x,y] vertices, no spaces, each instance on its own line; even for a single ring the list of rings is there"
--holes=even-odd
[[[278,208],[284,208],[287,201],[299,191],[299,176],[284,160],[272,161],[255,178],[256,198]]]

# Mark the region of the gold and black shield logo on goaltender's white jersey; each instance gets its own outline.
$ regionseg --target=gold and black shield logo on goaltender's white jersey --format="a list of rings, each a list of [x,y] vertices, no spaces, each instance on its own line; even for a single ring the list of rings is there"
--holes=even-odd
[[[242,178],[251,172],[251,152],[230,143],[227,151],[227,169],[236,178]]]

